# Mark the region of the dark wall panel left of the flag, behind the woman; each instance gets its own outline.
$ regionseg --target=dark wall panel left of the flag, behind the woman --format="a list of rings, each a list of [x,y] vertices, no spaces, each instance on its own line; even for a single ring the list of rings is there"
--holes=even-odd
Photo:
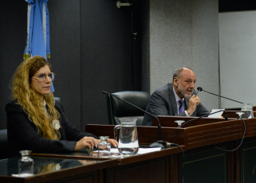
[[[25,1],[2,1],[0,6],[0,129],[6,128],[5,106],[11,100],[10,82],[26,46]]]

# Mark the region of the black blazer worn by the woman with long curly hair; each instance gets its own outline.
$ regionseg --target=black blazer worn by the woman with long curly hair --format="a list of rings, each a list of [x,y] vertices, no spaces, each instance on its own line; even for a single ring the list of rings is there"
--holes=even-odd
[[[10,156],[18,155],[19,150],[32,150],[33,153],[68,153],[74,151],[77,141],[81,138],[85,136],[97,138],[93,134],[81,133],[77,130],[66,118],[57,101],[55,108],[61,115],[60,140],[42,138],[17,100],[6,104]]]

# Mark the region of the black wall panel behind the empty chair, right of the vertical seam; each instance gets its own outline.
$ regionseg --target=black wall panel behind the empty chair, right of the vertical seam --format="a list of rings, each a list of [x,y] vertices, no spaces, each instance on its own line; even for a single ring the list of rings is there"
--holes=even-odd
[[[131,24],[116,1],[81,1],[81,116],[108,124],[102,91],[132,90]]]

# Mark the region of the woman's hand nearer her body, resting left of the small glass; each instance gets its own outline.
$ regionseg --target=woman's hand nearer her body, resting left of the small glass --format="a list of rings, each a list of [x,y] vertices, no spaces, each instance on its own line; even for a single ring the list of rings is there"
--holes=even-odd
[[[93,147],[98,146],[99,142],[100,142],[100,140],[98,140],[96,138],[84,137],[84,138],[81,138],[77,142],[77,145],[75,146],[75,150],[76,151],[83,150],[83,149],[85,149],[85,147],[88,147],[89,150],[93,150]]]

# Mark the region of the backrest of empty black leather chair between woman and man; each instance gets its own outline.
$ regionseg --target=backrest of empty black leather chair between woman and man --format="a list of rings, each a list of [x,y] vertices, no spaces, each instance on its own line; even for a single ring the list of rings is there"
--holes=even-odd
[[[150,94],[144,91],[119,91],[112,94],[143,110],[146,110],[150,99]],[[144,111],[140,111],[120,99],[107,95],[109,124],[120,124],[120,118],[136,118],[137,126],[141,126],[144,119]]]

